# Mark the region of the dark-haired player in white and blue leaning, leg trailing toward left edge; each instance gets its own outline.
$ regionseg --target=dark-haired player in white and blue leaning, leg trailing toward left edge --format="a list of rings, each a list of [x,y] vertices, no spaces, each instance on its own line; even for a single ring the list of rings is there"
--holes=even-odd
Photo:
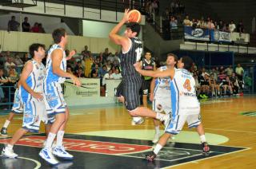
[[[14,133],[13,138],[2,150],[2,155],[9,158],[18,157],[13,151],[14,144],[27,132],[38,132],[41,120],[46,120],[44,114],[46,108],[42,96],[42,82],[45,76],[45,67],[42,64],[42,59],[45,57],[44,45],[30,45],[30,55],[33,59],[26,62],[20,78],[19,95],[24,109],[22,128]]]

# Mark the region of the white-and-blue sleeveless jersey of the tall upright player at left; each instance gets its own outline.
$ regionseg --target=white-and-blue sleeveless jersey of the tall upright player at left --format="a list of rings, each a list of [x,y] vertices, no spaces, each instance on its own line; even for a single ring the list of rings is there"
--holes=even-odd
[[[48,51],[47,60],[46,60],[46,77],[44,80],[44,83],[51,84],[53,82],[58,83],[64,83],[66,80],[66,77],[59,77],[58,75],[53,73],[53,65],[52,65],[52,59],[51,59],[51,53],[54,52],[55,49],[61,49],[63,51],[63,58],[60,65],[60,69],[66,72],[66,53],[62,49],[60,45],[54,44]]]

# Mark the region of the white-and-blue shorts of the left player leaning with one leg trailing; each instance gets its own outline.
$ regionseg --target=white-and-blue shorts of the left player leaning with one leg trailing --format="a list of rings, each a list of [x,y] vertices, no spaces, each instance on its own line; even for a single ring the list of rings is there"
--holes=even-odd
[[[22,128],[29,132],[38,132],[41,121],[47,123],[44,101],[38,101],[32,98],[31,100],[22,102],[22,104],[24,108]]]

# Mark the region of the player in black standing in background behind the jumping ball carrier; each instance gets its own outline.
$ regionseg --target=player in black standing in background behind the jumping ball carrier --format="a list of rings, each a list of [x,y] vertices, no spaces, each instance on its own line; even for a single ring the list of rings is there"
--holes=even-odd
[[[142,70],[156,70],[155,63],[151,58],[150,52],[145,53],[145,58],[142,58],[141,66],[142,66]],[[152,79],[153,79],[152,77],[142,76],[142,102],[144,107],[147,107],[147,96],[150,91],[150,83]]]

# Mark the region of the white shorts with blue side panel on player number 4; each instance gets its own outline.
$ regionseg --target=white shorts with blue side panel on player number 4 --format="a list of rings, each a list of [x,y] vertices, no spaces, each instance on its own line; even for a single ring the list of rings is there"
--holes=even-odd
[[[201,124],[201,116],[198,114],[181,114],[172,115],[170,123],[166,126],[165,132],[177,135],[182,131],[184,124],[187,123],[189,128],[196,128]]]

